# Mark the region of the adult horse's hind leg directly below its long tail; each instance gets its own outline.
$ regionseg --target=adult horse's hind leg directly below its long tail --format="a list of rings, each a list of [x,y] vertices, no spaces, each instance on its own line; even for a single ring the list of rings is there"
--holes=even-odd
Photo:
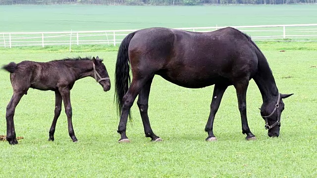
[[[129,87],[127,93],[123,96],[123,107],[117,131],[121,135],[119,142],[130,142],[125,133],[127,128],[128,114],[135,98],[137,97],[137,95],[139,94],[140,90],[143,88],[146,82],[146,79],[137,80],[136,77],[133,78],[131,86]]]

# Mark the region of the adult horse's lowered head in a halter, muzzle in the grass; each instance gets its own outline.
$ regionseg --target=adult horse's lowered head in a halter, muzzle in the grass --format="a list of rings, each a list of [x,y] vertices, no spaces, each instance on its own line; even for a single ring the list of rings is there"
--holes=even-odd
[[[268,103],[263,103],[261,106],[261,116],[265,121],[265,129],[270,137],[278,136],[281,127],[281,114],[284,110],[284,102],[282,98],[287,98],[293,94],[280,94],[277,100],[272,100]]]

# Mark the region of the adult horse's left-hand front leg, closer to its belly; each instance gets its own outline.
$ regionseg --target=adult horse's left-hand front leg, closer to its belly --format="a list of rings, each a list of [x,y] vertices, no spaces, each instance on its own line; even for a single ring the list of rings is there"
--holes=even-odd
[[[228,88],[228,86],[221,86],[221,85],[214,85],[213,94],[212,94],[212,100],[210,105],[210,114],[209,118],[206,124],[205,131],[208,133],[208,137],[206,138],[206,141],[214,141],[216,140],[216,137],[213,134],[213,120],[214,116],[218,111],[218,108],[220,106],[221,98],[223,96],[224,91]]]

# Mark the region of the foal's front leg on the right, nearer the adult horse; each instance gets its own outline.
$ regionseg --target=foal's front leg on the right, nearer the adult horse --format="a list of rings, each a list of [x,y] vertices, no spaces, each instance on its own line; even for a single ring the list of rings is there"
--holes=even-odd
[[[58,89],[61,97],[64,102],[64,107],[65,107],[65,113],[67,116],[67,123],[68,123],[68,134],[73,140],[73,142],[77,142],[77,138],[75,136],[74,128],[73,128],[73,123],[72,123],[72,108],[70,104],[70,90],[68,88],[61,88]]]

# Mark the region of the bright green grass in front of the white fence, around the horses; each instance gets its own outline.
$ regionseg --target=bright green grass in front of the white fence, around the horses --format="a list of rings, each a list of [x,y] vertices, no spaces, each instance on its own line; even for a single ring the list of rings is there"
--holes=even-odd
[[[29,89],[15,112],[18,145],[0,142],[0,177],[275,177],[317,176],[317,66],[314,45],[298,50],[301,43],[262,43],[278,89],[295,93],[284,99],[278,138],[269,138],[258,107],[261,94],[254,81],[247,93],[247,113],[255,141],[241,134],[235,89],[229,87],[214,121],[217,142],[206,142],[204,128],[210,111],[213,87],[186,89],[156,76],[149,101],[152,128],[164,141],[144,137],[141,118],[132,107],[128,123],[130,144],[119,144],[119,118],[114,96],[116,49],[90,46],[69,53],[67,47],[12,48],[0,51],[0,65],[22,60],[50,61],[72,56],[104,58],[112,89],[104,92],[93,78],[84,78],[71,90],[73,125],[78,143],[67,132],[62,111],[55,141],[48,141],[53,120],[52,91]],[[305,46],[305,45],[304,45]],[[95,49],[96,47],[97,49]],[[279,52],[280,47],[286,48]],[[315,50],[314,50],[315,49]],[[0,70],[0,134],[6,133],[5,107],[12,95],[9,74]]]

